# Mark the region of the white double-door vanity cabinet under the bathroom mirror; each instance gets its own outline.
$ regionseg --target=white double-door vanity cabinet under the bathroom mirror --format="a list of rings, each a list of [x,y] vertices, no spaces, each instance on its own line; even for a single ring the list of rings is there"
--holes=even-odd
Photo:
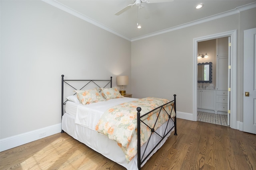
[[[215,90],[197,90],[197,106],[199,109],[215,110]]]

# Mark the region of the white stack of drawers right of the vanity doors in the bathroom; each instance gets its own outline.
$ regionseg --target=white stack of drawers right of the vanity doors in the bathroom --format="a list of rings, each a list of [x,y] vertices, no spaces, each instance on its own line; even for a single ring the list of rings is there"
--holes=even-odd
[[[216,112],[228,111],[228,90],[216,90]]]

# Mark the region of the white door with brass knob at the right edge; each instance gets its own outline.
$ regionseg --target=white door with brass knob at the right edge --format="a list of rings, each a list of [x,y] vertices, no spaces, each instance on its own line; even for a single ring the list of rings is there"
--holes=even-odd
[[[256,28],[244,30],[243,131],[256,134]]]

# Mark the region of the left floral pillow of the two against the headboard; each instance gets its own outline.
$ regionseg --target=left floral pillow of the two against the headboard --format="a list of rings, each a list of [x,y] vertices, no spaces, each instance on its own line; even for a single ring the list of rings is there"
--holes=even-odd
[[[74,92],[76,92],[78,100],[83,105],[105,101],[97,88],[90,90],[74,90]]]

